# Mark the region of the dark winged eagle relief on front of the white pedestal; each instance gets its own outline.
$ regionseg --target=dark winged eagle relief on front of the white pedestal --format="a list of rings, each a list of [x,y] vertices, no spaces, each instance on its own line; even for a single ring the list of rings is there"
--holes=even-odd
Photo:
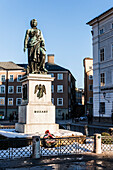
[[[38,91],[38,92],[37,92]],[[43,97],[44,93],[46,94],[46,88],[45,88],[45,85],[41,85],[41,84],[37,84],[35,86],[35,91],[34,91],[34,94],[37,93],[37,97],[40,99]]]

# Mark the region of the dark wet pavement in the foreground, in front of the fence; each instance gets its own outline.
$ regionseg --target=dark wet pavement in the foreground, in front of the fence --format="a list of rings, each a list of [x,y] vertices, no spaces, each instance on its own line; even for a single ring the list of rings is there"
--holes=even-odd
[[[96,155],[78,154],[65,157],[43,157],[40,159],[0,160],[1,170],[111,170],[113,152]]]

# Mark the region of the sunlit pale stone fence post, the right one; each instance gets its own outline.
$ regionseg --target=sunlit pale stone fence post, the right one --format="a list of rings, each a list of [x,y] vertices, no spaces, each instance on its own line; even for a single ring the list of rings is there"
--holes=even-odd
[[[101,134],[94,134],[94,153],[101,153]]]

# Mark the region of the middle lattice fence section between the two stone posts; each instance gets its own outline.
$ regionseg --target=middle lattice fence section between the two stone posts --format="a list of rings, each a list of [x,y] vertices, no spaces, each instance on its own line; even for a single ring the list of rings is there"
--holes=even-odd
[[[52,141],[53,139],[48,139]],[[93,138],[83,137],[65,137],[54,138],[54,146],[43,146],[43,139],[41,139],[41,156],[52,155],[69,155],[83,152],[93,152],[94,140]]]

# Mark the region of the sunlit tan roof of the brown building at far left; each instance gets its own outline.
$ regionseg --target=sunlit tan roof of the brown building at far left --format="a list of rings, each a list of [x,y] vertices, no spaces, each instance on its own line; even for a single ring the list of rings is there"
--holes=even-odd
[[[23,70],[24,69],[23,67],[18,66],[12,61],[0,62],[0,67],[5,70]]]

